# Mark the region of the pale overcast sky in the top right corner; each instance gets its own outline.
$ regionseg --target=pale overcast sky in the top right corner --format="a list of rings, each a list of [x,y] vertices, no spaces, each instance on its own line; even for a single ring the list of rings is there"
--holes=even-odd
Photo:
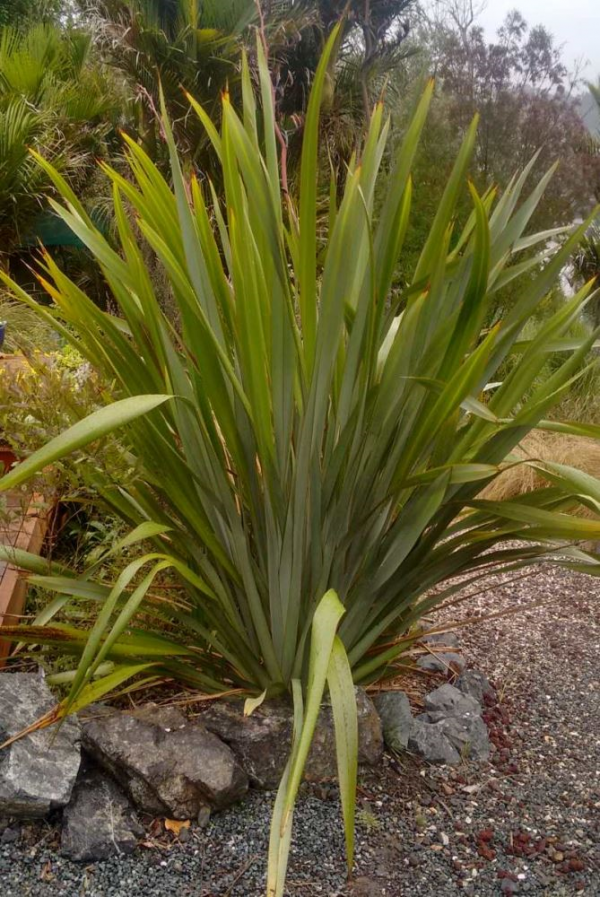
[[[518,9],[529,25],[545,25],[558,44],[569,68],[576,59],[589,60],[584,75],[600,75],[600,0],[488,0],[478,22],[492,36],[507,12]]]

